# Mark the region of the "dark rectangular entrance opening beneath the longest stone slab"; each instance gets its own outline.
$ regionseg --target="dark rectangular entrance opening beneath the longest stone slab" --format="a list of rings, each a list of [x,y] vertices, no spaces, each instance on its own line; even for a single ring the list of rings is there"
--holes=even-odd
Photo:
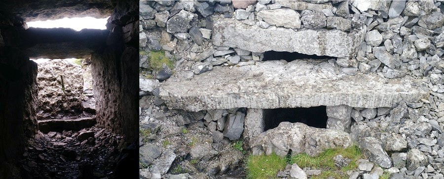
[[[310,108],[277,108],[263,110],[264,129],[272,129],[281,122],[301,122],[317,128],[327,127],[326,106]]]

